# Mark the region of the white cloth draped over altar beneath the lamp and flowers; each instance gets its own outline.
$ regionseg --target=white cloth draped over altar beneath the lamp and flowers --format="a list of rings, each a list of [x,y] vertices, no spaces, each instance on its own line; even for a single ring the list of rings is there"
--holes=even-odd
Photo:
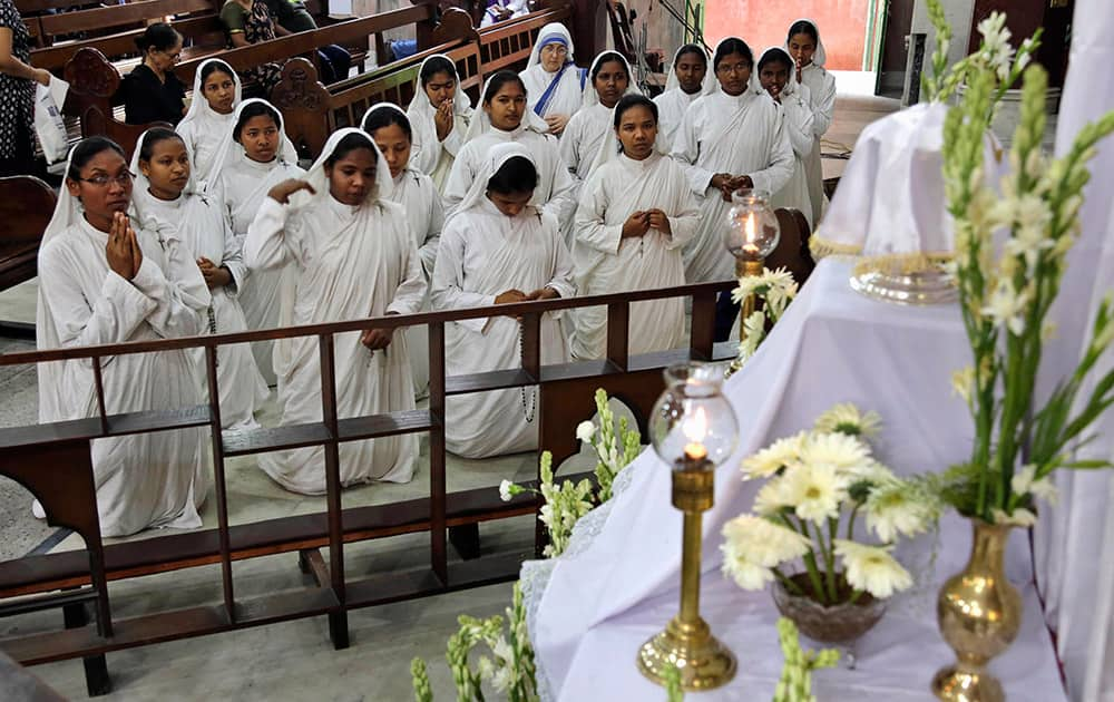
[[[759,352],[725,383],[740,441],[717,469],[716,504],[704,515],[702,610],[743,665],[736,686],[697,699],[770,699],[781,661],[770,595],[744,593],[719,572],[720,528],[750,508],[761,486],[740,480],[742,458],[849,401],[882,416],[876,452],[899,475],[940,470],[969,452],[970,416],[950,382],[970,363],[958,309],[869,300],[850,289],[849,272],[848,262],[822,261]],[[647,450],[620,474],[615,497],[577,525],[564,556],[524,565],[544,699],[656,699],[634,655],[676,612],[681,521],[670,504],[670,470]],[[1026,536],[1015,534],[1007,554],[1007,574],[1026,592],[1023,634],[994,670],[1010,700],[1054,701],[1064,696],[1029,586]],[[941,520],[940,539],[931,572],[931,537],[899,547],[899,559],[920,576],[919,594],[898,596],[860,641],[857,671],[818,673],[820,700],[930,698],[932,672],[951,660],[936,633],[932,593],[962,567],[970,546],[967,525],[954,516]]]

